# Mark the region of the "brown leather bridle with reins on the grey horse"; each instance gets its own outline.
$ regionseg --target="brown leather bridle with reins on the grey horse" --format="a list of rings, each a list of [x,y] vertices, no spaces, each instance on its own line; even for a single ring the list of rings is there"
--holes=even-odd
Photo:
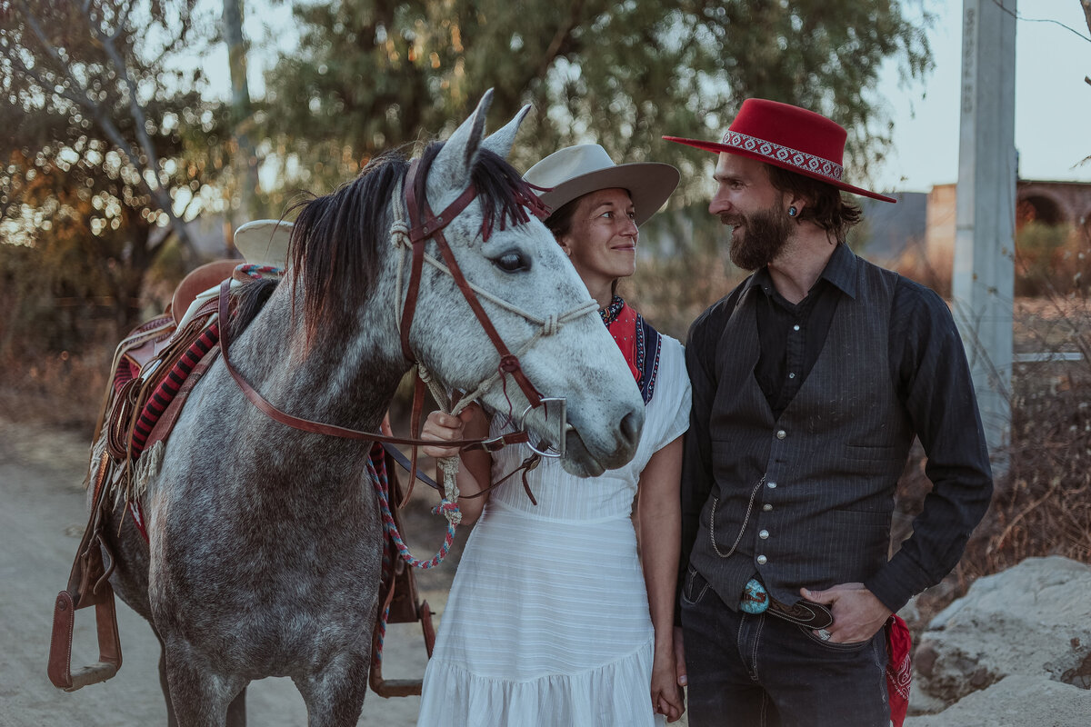
[[[543,398],[541,393],[533,387],[533,385],[530,384],[530,380],[523,372],[523,366],[519,363],[518,356],[511,352],[511,350],[504,343],[503,339],[496,332],[495,327],[492,325],[492,322],[489,319],[488,314],[485,313],[483,306],[481,305],[479,296],[488,298],[492,302],[501,304],[504,307],[527,318],[531,323],[536,323],[541,326],[540,330],[521,347],[521,349],[519,350],[520,354],[526,353],[526,351],[529,350],[529,348],[541,336],[552,335],[556,332],[563,323],[567,323],[570,320],[583,317],[584,315],[592,314],[598,310],[598,304],[594,300],[588,300],[585,303],[580,304],[577,307],[574,307],[573,310],[566,313],[555,316],[550,316],[549,318],[542,320],[525,311],[521,311],[508,303],[505,303],[504,301],[491,295],[487,291],[478,288],[477,286],[469,283],[466,280],[466,277],[463,275],[461,269],[458,266],[458,263],[455,260],[455,256],[451,251],[451,246],[448,245],[445,235],[443,234],[443,230],[477,197],[477,190],[473,183],[470,182],[470,184],[466,187],[466,190],[464,190],[461,194],[459,194],[458,197],[455,198],[454,202],[447,205],[447,207],[444,208],[439,215],[435,215],[432,211],[430,205],[428,204],[428,199],[424,193],[424,181],[427,180],[427,177],[428,177],[427,166],[422,166],[419,159],[415,159],[409,167],[408,173],[406,174],[405,185],[404,185],[405,189],[404,199],[406,205],[406,213],[409,222],[412,222],[411,227],[407,226],[405,218],[401,217],[401,197],[396,196],[393,205],[395,210],[395,221],[394,225],[392,226],[392,240],[394,244],[398,246],[399,250],[398,252],[399,265],[398,265],[398,278],[397,278],[398,284],[397,284],[397,293],[395,294],[395,305],[397,305],[397,301],[400,299],[400,284],[403,275],[401,267],[403,267],[403,262],[405,259],[403,250],[404,247],[409,247],[411,250],[411,266],[409,272],[409,281],[406,287],[406,298],[401,305],[400,311],[396,310],[395,312],[396,317],[399,318],[398,328],[401,339],[403,355],[406,358],[407,361],[417,366],[417,377],[416,377],[417,380],[413,386],[413,404],[412,404],[412,413],[410,416],[411,434],[416,435],[420,431],[420,415],[423,409],[423,390],[425,381],[430,386],[433,396],[435,397],[436,401],[441,404],[441,407],[443,407],[444,401],[447,400],[446,393],[443,392],[442,389],[439,389],[439,387],[433,386],[434,384],[433,379],[424,372],[423,367],[418,362],[417,356],[413,354],[411,347],[409,344],[409,331],[412,326],[413,316],[417,310],[417,301],[420,293],[421,272],[423,269],[424,262],[428,262],[430,265],[437,268],[439,270],[446,272],[454,279],[456,286],[461,291],[463,296],[469,304],[470,310],[473,311],[475,316],[477,317],[478,322],[481,324],[482,328],[488,335],[489,340],[492,342],[496,352],[500,354],[500,364],[496,368],[496,372],[492,376],[482,381],[482,384],[478,386],[478,388],[475,389],[472,392],[461,397],[460,399],[449,404],[448,407],[444,407],[444,409],[446,411],[449,411],[451,413],[457,414],[459,411],[465,409],[465,407],[468,405],[471,401],[476,400],[478,397],[483,395],[489,388],[495,385],[497,380],[503,384],[505,374],[511,375],[512,378],[518,384],[519,389],[523,391],[524,396],[527,398],[527,401],[529,402],[529,405],[524,410],[524,412],[519,416],[513,417],[513,421],[515,422],[517,427],[515,432],[504,434],[497,437],[456,439],[456,440],[436,443],[433,440],[420,439],[418,437],[394,437],[391,435],[377,434],[374,432],[363,432],[360,429],[343,427],[336,424],[314,422],[311,420],[305,420],[289,414],[269,403],[269,401],[266,400],[256,389],[254,389],[254,387],[251,386],[249,381],[247,381],[247,379],[238,372],[238,369],[236,369],[230,359],[228,358],[228,348],[230,346],[230,340],[228,332],[229,326],[227,325],[227,323],[229,320],[230,280],[225,280],[220,284],[219,302],[218,302],[219,305],[218,313],[220,319],[219,347],[221,356],[224,359],[224,365],[226,366],[228,373],[231,375],[231,378],[235,380],[235,383],[241,389],[243,395],[247,397],[247,399],[250,400],[250,402],[253,403],[254,407],[256,407],[261,412],[263,412],[269,419],[279,422],[280,424],[284,424],[286,426],[290,426],[292,428],[300,429],[303,432],[310,432],[313,434],[322,434],[344,439],[379,441],[383,443],[384,445],[408,445],[412,447],[412,458],[409,468],[410,472],[409,487],[407,488],[406,495],[403,498],[403,505],[406,501],[408,501],[409,495],[412,492],[412,485],[416,478],[418,478],[419,476],[419,474],[417,473],[418,446],[442,444],[447,447],[459,447],[463,450],[479,448],[489,452],[495,452],[502,449],[503,447],[506,447],[507,445],[526,444],[530,446],[531,449],[533,449],[535,455],[527,458],[527,460],[524,461],[524,464],[520,465],[520,469],[524,469],[525,471],[533,469],[533,467],[537,465],[538,460],[541,457],[561,457],[564,453],[564,438],[565,438],[564,434],[565,431],[568,428],[567,422],[564,419],[564,410],[565,410],[564,400]],[[543,217],[549,213],[549,209],[533,194],[520,195],[519,202],[523,204],[523,206],[528,207],[531,210],[531,213],[538,217]],[[521,222],[529,221],[530,218],[529,216],[527,216],[526,211],[523,210],[523,207],[519,207],[519,211],[524,216],[524,219],[519,221]],[[435,241],[437,247],[440,249],[440,253],[443,257],[445,265],[444,263],[441,263],[440,260],[437,260],[436,258],[432,257],[431,255],[424,252],[424,243],[428,240]],[[524,426],[526,416],[533,409],[542,407],[549,402],[560,403],[561,419],[562,419],[562,421],[559,422],[560,436],[558,437],[556,451],[553,452],[542,451],[535,448],[531,445],[529,434],[527,433]],[[442,460],[441,464],[443,464]],[[453,471],[452,471],[452,465],[453,465]],[[451,474],[449,477],[445,478],[448,481],[453,481],[454,471],[457,471],[457,462],[447,462],[447,467],[443,469],[445,473],[449,472]],[[505,477],[505,480],[506,478],[507,477]],[[525,476],[524,476],[524,485],[526,486]],[[436,488],[439,489],[437,486]],[[449,494],[451,489],[452,487],[448,486],[447,487],[448,493],[444,495],[444,500],[447,500],[451,497]],[[527,487],[527,489],[529,493],[529,487]],[[454,496],[457,497],[457,489],[454,489]]]

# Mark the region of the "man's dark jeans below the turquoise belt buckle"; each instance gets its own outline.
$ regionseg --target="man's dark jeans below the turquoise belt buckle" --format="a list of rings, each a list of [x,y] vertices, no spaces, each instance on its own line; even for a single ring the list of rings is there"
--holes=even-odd
[[[691,727],[888,727],[886,634],[831,644],[729,608],[692,567],[682,592]]]

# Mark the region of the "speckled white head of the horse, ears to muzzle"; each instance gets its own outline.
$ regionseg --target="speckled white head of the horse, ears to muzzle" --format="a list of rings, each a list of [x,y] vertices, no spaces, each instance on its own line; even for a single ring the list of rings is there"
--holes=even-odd
[[[478,196],[449,222],[446,238],[467,280],[488,292],[481,303],[531,384],[543,397],[567,401],[572,426],[563,465],[574,474],[597,475],[632,459],[644,402],[597,304],[553,234],[532,216],[529,221],[511,216],[513,205],[518,209],[513,194],[520,179],[503,159],[529,107],[485,137],[491,99],[489,92],[439,153],[432,152],[428,202],[439,214],[471,180],[478,181]],[[439,257],[433,242],[425,250]],[[476,389],[500,362],[454,280],[432,266],[425,266],[410,343],[418,359],[453,389]],[[528,405],[511,379],[491,386],[481,401],[516,415]],[[555,423],[546,419],[535,409],[526,424],[555,444]]]

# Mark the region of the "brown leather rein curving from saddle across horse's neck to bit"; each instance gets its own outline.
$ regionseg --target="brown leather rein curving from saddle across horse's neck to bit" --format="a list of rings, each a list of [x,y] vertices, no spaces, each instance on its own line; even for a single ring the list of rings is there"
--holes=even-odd
[[[375,434],[374,432],[361,432],[360,429],[350,429],[344,426],[337,426],[336,424],[323,424],[322,422],[313,422],[311,420],[302,419],[299,416],[293,416],[284,412],[273,404],[271,404],[254,387],[247,381],[245,378],[235,368],[228,356],[228,348],[230,347],[230,310],[228,305],[229,296],[231,292],[231,281],[230,279],[225,280],[219,287],[219,350],[220,355],[224,360],[224,365],[227,367],[227,372],[235,379],[239,389],[245,395],[247,399],[250,400],[254,407],[259,409],[263,414],[268,416],[275,422],[279,422],[285,426],[290,426],[293,429],[300,429],[302,432],[310,432],[312,434],[324,434],[331,437],[340,437],[341,439],[362,439],[367,441],[385,441],[392,445],[434,445],[436,443],[429,441],[424,439],[415,439],[409,437],[391,437],[383,434]],[[523,444],[529,439],[529,435],[526,432],[513,432],[511,434],[505,434],[500,437],[492,437],[489,439],[454,439],[452,441],[442,443],[447,447],[476,447],[480,446],[488,451],[497,451],[507,445]]]

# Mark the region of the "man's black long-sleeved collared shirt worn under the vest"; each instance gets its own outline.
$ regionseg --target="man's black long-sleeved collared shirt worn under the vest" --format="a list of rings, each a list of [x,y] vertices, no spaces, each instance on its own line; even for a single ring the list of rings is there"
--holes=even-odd
[[[755,274],[752,284],[764,294],[756,298],[762,354],[754,376],[776,416],[818,359],[838,302],[850,290],[855,263],[853,253],[838,245],[818,281],[795,305],[776,291],[767,268]],[[680,585],[712,486],[697,453],[702,441],[707,446],[707,403],[715,399],[715,380],[704,372],[714,367],[717,334],[745,286],[706,311],[691,328],[686,344],[694,409],[682,468]],[[988,507],[992,474],[962,340],[947,304],[934,291],[906,278],[898,280],[889,320],[889,368],[875,374],[891,377],[927,455],[925,474],[933,483],[923,512],[913,521],[912,537],[865,584],[897,610],[957,565],[969,533]]]

